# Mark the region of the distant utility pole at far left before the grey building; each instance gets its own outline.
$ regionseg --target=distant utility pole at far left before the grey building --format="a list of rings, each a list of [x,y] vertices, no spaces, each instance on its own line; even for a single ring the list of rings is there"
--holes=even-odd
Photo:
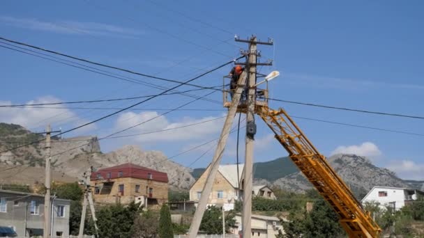
[[[50,215],[51,215],[51,206],[50,206],[50,187],[52,184],[52,171],[50,170],[50,160],[52,159],[51,148],[50,148],[50,134],[52,129],[50,124],[46,128],[45,136],[45,197],[44,197],[44,231],[43,237],[50,237]]]

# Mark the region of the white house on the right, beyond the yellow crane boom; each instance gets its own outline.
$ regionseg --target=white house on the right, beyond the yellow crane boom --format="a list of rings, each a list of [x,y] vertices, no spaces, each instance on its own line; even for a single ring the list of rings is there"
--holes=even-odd
[[[361,200],[361,203],[363,205],[379,203],[384,207],[393,207],[398,210],[420,196],[424,196],[424,192],[416,189],[375,186]]]

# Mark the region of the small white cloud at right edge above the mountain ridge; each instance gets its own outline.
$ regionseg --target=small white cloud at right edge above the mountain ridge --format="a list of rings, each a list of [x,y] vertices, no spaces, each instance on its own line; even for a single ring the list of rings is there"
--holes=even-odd
[[[424,164],[417,164],[414,161],[403,159],[391,161],[386,168],[394,171],[404,180],[424,180]]]

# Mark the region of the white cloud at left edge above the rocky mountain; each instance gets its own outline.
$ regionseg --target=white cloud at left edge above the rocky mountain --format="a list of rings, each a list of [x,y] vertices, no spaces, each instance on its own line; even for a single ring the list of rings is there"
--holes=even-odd
[[[61,102],[61,100],[52,96],[39,97],[36,100],[31,100],[26,104],[46,104],[52,102]],[[10,101],[0,101],[1,105],[13,104]],[[48,106],[40,107],[0,107],[0,122],[13,123],[22,125],[27,129],[32,127],[45,127],[47,124],[55,125],[70,124],[72,127],[83,125],[87,122],[82,118],[79,118],[77,114],[69,109],[53,109]],[[77,132],[87,132],[91,129],[95,129],[96,125],[88,125],[78,129]],[[59,128],[54,128],[59,129]]]

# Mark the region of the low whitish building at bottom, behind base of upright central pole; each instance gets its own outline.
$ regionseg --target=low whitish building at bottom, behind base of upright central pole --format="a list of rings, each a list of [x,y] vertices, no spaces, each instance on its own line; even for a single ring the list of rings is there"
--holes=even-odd
[[[280,223],[280,219],[275,216],[259,216],[252,214],[252,237],[255,238],[275,238],[278,230],[285,234]],[[241,232],[241,214],[236,215],[236,228],[232,229],[233,234]]]

